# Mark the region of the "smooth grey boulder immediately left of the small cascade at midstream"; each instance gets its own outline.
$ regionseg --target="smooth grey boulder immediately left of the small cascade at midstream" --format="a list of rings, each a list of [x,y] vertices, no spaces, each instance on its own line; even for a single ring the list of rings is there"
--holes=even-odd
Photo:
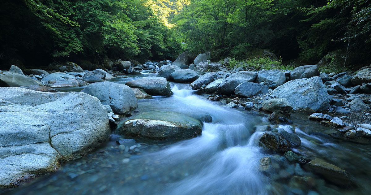
[[[150,95],[173,95],[169,82],[163,77],[147,77],[129,81],[125,85],[139,88]]]

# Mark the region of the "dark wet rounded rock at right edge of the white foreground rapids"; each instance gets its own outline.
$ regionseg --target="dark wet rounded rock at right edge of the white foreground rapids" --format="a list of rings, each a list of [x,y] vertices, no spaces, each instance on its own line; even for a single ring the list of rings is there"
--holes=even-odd
[[[259,146],[274,152],[286,152],[290,149],[290,142],[281,134],[268,131],[259,139]]]

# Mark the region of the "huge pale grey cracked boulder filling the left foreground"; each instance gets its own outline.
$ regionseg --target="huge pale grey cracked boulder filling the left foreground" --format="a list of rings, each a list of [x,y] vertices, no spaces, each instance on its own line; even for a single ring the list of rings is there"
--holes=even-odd
[[[0,188],[56,171],[104,143],[105,107],[82,92],[0,88]]]

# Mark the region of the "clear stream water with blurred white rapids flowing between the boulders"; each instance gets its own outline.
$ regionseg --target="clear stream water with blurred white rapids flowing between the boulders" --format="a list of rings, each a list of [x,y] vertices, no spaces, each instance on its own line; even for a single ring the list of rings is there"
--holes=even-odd
[[[155,74],[144,72],[125,82]],[[293,126],[302,140],[296,153],[316,156],[347,170],[358,183],[339,188],[306,172],[298,163],[266,153],[257,144],[263,132],[256,126],[269,124],[267,116],[255,111],[227,108],[194,95],[187,84],[171,83],[174,95],[138,100],[139,113],[174,111],[199,118],[210,114],[202,135],[180,142],[137,140],[135,153],[117,149],[115,141],[125,138],[112,132],[109,142],[81,159],[67,162],[55,173],[41,176],[4,194],[110,194],[110,195],[265,195],[265,194],[370,194],[370,146],[338,142],[321,131],[328,127],[292,115]],[[80,91],[64,88],[61,91]],[[128,118],[122,118],[122,122]],[[119,125],[120,126],[120,125]],[[280,126],[287,131],[287,126]],[[272,165],[262,171],[259,160],[271,157]]]

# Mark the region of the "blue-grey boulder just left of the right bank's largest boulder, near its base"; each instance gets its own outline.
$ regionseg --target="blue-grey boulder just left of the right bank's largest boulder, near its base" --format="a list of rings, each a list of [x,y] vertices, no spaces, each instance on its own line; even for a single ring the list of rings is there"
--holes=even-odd
[[[237,85],[236,89],[234,90],[234,94],[238,97],[253,97],[254,95],[258,94],[267,94],[268,93],[268,86],[257,84],[255,82],[243,82]]]

